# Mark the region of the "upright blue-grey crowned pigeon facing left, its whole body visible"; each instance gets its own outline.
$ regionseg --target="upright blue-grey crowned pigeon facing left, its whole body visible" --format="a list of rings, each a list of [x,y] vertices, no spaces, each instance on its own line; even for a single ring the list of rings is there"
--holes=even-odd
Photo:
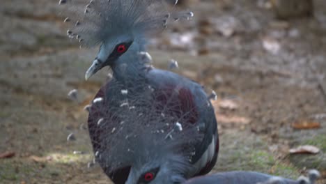
[[[111,81],[102,86],[92,107],[88,108],[88,130],[95,156],[109,158],[121,155],[116,160],[98,159],[104,172],[114,183],[164,184],[207,174],[214,167],[219,151],[217,121],[210,100],[202,86],[196,82],[173,72],[153,68],[146,52],[146,43],[153,33],[164,30],[169,22],[190,19],[193,13],[170,11],[170,4],[164,0],[92,0],[80,8],[81,2],[61,0],[59,4],[66,5],[71,12],[65,18],[65,22],[72,24],[67,31],[68,36],[79,40],[82,46],[100,45],[98,56],[88,68],[85,78],[88,79],[105,66],[113,71]],[[144,146],[144,151],[148,150],[155,156],[141,159],[146,152],[137,152],[138,155],[135,153],[131,157],[134,160],[130,164],[116,164],[127,163],[127,157],[124,157],[125,153],[112,152],[114,149],[111,147],[118,145],[107,142],[121,142],[121,139],[112,134],[117,133],[118,125],[125,125],[123,119],[132,116],[127,111],[118,110],[126,107],[130,110],[137,109],[141,115],[154,113],[151,114],[152,117],[160,114],[160,117],[165,118],[164,121],[157,119],[151,123],[165,125],[166,120],[178,120],[169,122],[168,128],[171,128],[171,123],[176,127],[174,129],[185,132],[189,132],[189,127],[196,127],[197,132],[203,136],[190,141],[192,136],[197,135],[187,134],[188,145],[177,144],[183,145],[184,149],[176,154],[173,148],[178,146],[170,147],[164,141],[161,142],[162,145],[154,146],[155,150],[150,148],[154,138],[147,137],[151,130],[146,130],[143,131],[143,139],[148,139],[150,144],[136,141],[133,146]],[[123,116],[113,118],[117,112]],[[166,134],[167,130],[160,131]],[[166,139],[176,137],[165,136]],[[189,148],[194,149],[189,152]],[[189,154],[189,159],[181,159],[185,158],[183,155]],[[141,161],[134,162],[137,158]]]

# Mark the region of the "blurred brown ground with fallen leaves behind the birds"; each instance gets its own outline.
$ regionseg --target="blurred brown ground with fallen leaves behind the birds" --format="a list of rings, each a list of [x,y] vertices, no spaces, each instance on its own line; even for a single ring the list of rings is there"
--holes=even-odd
[[[158,68],[175,59],[175,72],[216,91],[212,172],[297,178],[318,169],[326,182],[326,1],[180,0],[178,8],[193,20],[169,26],[149,52]],[[84,110],[109,71],[84,81],[97,49],[69,40],[60,12],[57,0],[1,0],[0,183],[109,182],[92,164]]]

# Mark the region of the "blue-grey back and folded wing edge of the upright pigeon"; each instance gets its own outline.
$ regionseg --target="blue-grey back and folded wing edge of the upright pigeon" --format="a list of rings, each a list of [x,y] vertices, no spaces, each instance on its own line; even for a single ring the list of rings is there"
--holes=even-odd
[[[169,94],[163,102],[179,100],[178,105],[180,105],[182,115],[187,114],[189,117],[184,123],[195,123],[202,129],[201,131],[205,132],[192,158],[192,164],[194,164],[192,176],[208,174],[217,161],[219,139],[215,110],[203,87],[191,79],[167,70],[150,70],[147,78],[150,84],[156,86],[159,91],[176,93],[176,99],[171,99],[173,95]]]

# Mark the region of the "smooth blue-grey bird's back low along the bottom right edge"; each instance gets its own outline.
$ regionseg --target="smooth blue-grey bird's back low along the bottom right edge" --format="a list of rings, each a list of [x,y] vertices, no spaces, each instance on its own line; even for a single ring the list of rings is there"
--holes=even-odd
[[[320,176],[316,170],[309,171],[308,178],[300,176],[296,181],[255,171],[229,171],[189,179],[183,184],[315,184]]]

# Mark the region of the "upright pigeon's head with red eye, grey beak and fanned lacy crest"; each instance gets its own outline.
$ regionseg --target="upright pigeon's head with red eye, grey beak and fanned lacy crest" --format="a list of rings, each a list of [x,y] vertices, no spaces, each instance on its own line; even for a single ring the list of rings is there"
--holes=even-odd
[[[88,79],[104,66],[132,64],[145,50],[148,37],[164,30],[169,20],[189,19],[192,12],[174,13],[167,0],[60,0],[68,8],[67,34],[82,46],[100,45],[88,68]],[[178,2],[178,1],[176,1]]]

